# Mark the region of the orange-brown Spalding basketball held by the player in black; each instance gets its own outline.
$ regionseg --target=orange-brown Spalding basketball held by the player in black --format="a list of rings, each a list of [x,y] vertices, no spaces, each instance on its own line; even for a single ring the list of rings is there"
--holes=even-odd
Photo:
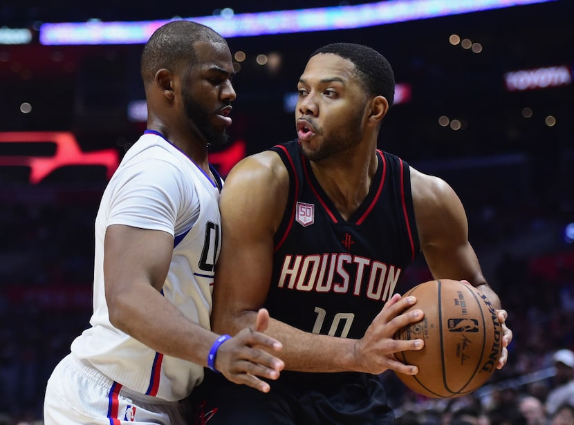
[[[396,373],[416,393],[427,397],[461,397],[487,381],[500,357],[501,325],[494,306],[475,287],[442,279],[413,287],[405,296],[416,296],[409,310],[425,312],[395,339],[423,339],[418,351],[398,352],[405,364],[418,366],[416,375]]]

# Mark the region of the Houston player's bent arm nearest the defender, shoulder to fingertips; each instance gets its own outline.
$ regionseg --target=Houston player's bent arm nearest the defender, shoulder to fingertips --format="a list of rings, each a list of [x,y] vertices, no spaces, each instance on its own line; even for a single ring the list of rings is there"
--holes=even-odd
[[[274,235],[286,207],[288,185],[287,170],[271,152],[243,160],[225,181],[220,201],[223,242],[212,312],[216,332],[234,333],[252,325],[255,312],[265,303]],[[272,318],[267,333],[283,343],[280,357],[289,370],[380,373],[393,368],[411,374],[416,368],[395,361],[393,353],[413,349],[415,342],[391,337],[409,321],[420,320],[416,312],[398,316],[412,303],[413,299],[398,297],[389,301],[375,319],[378,325],[361,340],[312,334]],[[297,314],[297,306],[293,309]]]

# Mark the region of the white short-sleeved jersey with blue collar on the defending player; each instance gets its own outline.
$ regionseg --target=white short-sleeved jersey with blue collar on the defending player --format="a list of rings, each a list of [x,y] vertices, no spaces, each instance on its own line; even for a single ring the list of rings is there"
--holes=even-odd
[[[203,379],[203,366],[155,352],[109,321],[104,236],[114,224],[174,235],[163,296],[187,319],[210,329],[211,285],[221,241],[219,189],[159,133],[146,131],[127,151],[104,191],[95,220],[91,328],[71,347],[76,357],[122,386],[168,401],[183,399]]]

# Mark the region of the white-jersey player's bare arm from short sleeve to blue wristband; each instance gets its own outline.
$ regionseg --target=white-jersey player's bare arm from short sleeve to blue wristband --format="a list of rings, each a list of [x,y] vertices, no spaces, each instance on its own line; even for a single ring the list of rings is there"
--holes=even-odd
[[[174,238],[166,232],[108,227],[104,278],[110,321],[158,352],[204,364],[215,335],[191,323],[160,294],[173,247]]]

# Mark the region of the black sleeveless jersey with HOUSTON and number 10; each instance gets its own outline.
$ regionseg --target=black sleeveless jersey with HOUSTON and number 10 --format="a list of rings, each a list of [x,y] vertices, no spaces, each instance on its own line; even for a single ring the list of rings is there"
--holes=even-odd
[[[377,151],[371,189],[344,220],[320,187],[298,140],[271,148],[289,171],[266,300],[271,317],[295,328],[361,338],[420,250],[409,165]]]

